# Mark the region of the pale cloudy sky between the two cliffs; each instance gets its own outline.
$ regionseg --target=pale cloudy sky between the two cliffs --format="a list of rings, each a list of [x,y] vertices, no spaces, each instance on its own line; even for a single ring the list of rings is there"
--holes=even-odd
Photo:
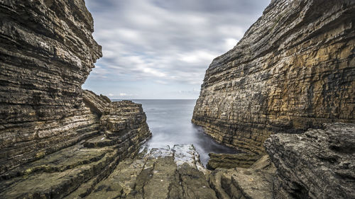
[[[82,86],[111,99],[196,99],[270,0],[85,0],[103,57]]]

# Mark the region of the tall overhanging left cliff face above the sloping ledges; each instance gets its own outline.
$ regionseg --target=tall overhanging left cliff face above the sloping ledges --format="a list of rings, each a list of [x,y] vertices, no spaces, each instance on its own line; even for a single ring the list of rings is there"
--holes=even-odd
[[[99,132],[81,86],[102,56],[83,0],[0,1],[0,174]]]

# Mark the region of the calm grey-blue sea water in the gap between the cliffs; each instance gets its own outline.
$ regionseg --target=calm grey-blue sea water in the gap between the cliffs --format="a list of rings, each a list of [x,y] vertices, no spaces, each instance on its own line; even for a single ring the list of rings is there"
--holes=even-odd
[[[164,147],[174,144],[194,144],[204,166],[208,154],[236,153],[236,150],[218,144],[204,134],[202,127],[191,123],[196,100],[133,100],[141,103],[147,115],[147,123],[153,137],[148,147]]]

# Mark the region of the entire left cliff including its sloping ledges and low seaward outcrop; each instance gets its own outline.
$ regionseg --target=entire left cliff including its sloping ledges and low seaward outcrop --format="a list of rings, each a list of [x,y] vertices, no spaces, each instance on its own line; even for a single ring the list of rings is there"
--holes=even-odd
[[[151,136],[141,105],[81,89],[102,56],[83,0],[0,1],[0,198],[85,195]]]

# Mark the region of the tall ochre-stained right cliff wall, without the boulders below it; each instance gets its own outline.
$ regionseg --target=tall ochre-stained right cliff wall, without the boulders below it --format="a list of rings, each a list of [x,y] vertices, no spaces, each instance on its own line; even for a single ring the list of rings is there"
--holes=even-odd
[[[213,60],[192,122],[263,154],[275,132],[355,122],[355,1],[274,0]]]

